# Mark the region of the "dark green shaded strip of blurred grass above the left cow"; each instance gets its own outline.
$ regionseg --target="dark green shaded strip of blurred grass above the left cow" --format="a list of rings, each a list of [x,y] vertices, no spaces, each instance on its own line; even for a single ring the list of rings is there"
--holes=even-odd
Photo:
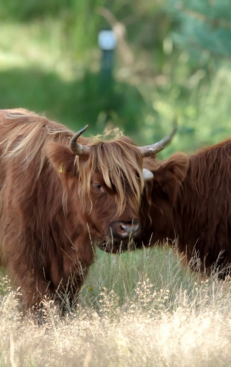
[[[86,72],[68,81],[39,69],[2,71],[0,78],[2,109],[25,107],[45,112],[73,130],[89,124],[90,134],[102,133],[113,121],[111,127],[119,126],[135,139],[142,127],[145,101],[130,84],[115,82],[109,92],[99,93],[99,74]]]

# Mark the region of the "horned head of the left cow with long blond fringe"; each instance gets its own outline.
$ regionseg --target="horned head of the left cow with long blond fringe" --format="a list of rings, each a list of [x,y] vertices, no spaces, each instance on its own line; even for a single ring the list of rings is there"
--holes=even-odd
[[[71,138],[69,146],[56,142],[47,146],[63,183],[64,207],[67,215],[75,210],[77,220],[88,224],[92,241],[101,243],[101,248],[113,241],[126,244],[140,233],[144,182],[153,179],[148,169],[143,175],[143,157],[155,154],[156,147],[138,147],[127,137],[87,141],[80,137],[85,129]]]

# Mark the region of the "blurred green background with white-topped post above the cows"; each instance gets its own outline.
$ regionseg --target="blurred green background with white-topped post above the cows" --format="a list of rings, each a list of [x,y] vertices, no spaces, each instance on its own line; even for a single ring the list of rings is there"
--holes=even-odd
[[[120,127],[160,156],[231,136],[229,0],[0,0],[0,108],[85,136]]]

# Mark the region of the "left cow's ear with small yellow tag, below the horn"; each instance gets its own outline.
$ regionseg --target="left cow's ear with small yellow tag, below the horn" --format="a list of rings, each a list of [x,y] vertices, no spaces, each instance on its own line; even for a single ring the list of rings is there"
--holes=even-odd
[[[76,155],[68,146],[49,142],[46,146],[46,155],[58,173],[66,176],[74,174]]]

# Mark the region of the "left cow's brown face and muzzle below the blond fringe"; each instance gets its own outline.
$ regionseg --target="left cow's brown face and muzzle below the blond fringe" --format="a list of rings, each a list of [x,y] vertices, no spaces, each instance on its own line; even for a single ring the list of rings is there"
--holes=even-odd
[[[125,182],[125,190],[127,186],[128,182]],[[142,191],[141,185],[139,190]],[[93,173],[90,195],[85,200],[85,217],[89,228],[94,231],[95,240],[98,238],[97,243],[103,240],[103,246],[108,246],[113,241],[127,241],[140,233],[139,203],[134,200],[132,205],[130,199],[125,195],[125,206],[118,212],[116,188],[105,184],[102,173]]]

